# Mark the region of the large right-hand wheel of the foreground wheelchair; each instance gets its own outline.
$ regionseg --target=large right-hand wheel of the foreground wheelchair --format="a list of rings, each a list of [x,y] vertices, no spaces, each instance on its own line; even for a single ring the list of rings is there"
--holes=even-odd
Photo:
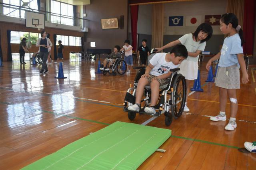
[[[182,74],[178,74],[173,82],[172,115],[174,119],[180,117],[186,102],[186,80]]]

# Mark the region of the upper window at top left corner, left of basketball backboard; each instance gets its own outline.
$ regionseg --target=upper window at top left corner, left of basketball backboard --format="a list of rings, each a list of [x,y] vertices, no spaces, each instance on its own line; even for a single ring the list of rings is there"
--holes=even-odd
[[[22,8],[24,2],[28,2],[28,6],[26,8]],[[16,17],[16,18],[25,18],[25,10],[38,12],[37,0],[3,0],[3,14],[5,16]],[[19,8],[19,7],[20,8]]]

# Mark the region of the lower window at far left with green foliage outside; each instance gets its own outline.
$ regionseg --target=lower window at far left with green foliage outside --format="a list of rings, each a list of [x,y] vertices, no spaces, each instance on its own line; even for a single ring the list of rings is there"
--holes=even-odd
[[[31,41],[32,44],[36,44],[40,37],[40,33],[11,31],[11,43],[20,43],[22,38],[26,38],[27,42]]]

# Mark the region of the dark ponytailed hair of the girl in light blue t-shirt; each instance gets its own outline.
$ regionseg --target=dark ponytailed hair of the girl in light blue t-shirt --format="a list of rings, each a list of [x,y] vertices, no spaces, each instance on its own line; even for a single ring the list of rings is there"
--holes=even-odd
[[[238,19],[236,17],[235,14],[233,13],[226,13],[223,14],[220,17],[221,22],[225,23],[226,25],[228,25],[229,23],[232,24],[232,27],[234,29],[236,29],[236,27],[238,26]],[[241,39],[241,46],[244,44],[244,38],[243,38],[243,30],[242,28],[240,28],[240,30],[238,31],[239,37]]]

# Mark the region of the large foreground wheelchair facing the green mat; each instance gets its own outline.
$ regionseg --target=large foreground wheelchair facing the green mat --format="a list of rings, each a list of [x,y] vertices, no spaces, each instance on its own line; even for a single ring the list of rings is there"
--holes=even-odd
[[[153,55],[154,53],[148,56],[148,63]],[[136,87],[140,77],[145,73],[146,67],[134,67],[134,69],[139,69],[134,79],[134,87],[130,87],[127,90],[124,98],[124,111],[128,112],[128,118],[131,121],[135,119],[137,112],[130,111],[127,108],[135,104]],[[144,96],[141,100],[139,114],[151,115],[153,117],[159,117],[164,114],[166,126],[171,125],[173,117],[174,119],[178,119],[182,115],[186,101],[186,80],[182,74],[178,73],[179,70],[180,68],[170,69],[172,74],[170,75],[168,84],[160,86],[158,104],[154,106],[156,108],[155,114],[144,111],[145,107],[150,105],[151,98],[150,85],[144,87]]]

